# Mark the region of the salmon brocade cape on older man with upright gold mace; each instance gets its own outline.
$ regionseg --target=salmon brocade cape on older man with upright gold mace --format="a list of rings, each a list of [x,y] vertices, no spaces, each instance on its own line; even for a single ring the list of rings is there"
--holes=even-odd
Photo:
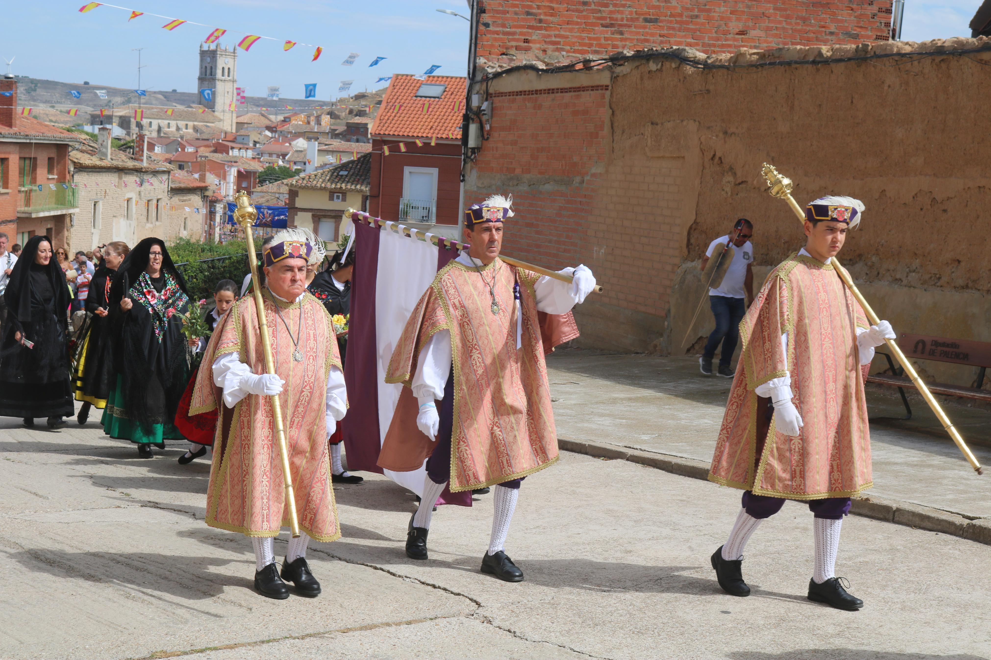
[[[302,314],[301,362],[292,359],[292,337],[276,315],[276,305],[293,335]],[[285,381],[279,400],[299,528],[318,541],[333,541],[340,538],[341,527],[330,480],[325,413],[327,377],[331,367],[341,368],[334,326],[320,301],[308,293],[298,303],[286,303],[265,290],[265,313],[275,372]],[[206,523],[248,536],[276,536],[289,521],[272,397],[249,394],[233,409],[223,404],[211,365],[231,352],[237,352],[254,373],[266,373],[252,296],[236,302],[214,330],[190,402],[190,415],[221,413],[213,443]]]

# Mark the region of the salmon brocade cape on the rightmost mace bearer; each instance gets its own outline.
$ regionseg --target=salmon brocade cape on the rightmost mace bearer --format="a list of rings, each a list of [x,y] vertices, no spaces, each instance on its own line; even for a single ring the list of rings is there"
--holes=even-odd
[[[740,322],[742,352],[711,481],[790,500],[853,497],[873,485],[864,397],[869,365],[860,365],[857,328],[869,328],[866,316],[831,263],[792,254],[771,271]],[[805,425],[789,436],[772,418],[764,441],[757,437],[754,389],[786,374]]]

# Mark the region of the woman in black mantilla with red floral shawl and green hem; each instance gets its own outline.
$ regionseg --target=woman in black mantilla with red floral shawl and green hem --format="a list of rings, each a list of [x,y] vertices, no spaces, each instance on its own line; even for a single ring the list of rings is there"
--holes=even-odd
[[[172,422],[189,377],[181,330],[188,305],[161,238],[139,242],[110,286],[117,386],[102,423],[111,437],[137,443],[142,458],[152,457],[152,444],[164,449],[165,438],[184,439]]]

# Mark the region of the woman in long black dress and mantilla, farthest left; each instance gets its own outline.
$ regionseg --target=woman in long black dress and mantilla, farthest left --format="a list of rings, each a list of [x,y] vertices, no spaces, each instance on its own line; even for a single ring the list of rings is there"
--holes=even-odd
[[[0,417],[36,417],[49,427],[73,413],[68,357],[68,288],[48,236],[24,246],[4,293],[7,323],[0,340]]]

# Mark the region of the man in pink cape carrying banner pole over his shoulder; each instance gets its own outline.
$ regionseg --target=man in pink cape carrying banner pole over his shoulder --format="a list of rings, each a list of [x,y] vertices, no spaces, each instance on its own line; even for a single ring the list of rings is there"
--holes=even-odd
[[[408,472],[429,456],[407,529],[412,559],[427,558],[431,512],[448,482],[452,492],[495,485],[482,571],[520,582],[503,551],[520,482],[558,458],[544,353],[577,336],[571,309],[596,279],[583,265],[560,271],[574,276],[567,283],[499,259],[511,201],[495,195],[465,212],[471,249],[438,271],[406,322],[385,373],[405,387],[379,465]]]

